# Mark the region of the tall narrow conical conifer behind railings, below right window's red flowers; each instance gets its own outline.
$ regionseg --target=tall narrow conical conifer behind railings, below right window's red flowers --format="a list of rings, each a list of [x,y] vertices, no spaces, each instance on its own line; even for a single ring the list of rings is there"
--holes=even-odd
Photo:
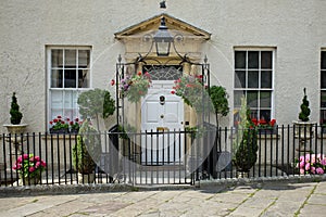
[[[233,142],[233,163],[237,168],[238,177],[248,177],[258,158],[258,133],[250,118],[246,98],[241,99],[239,117],[237,136]]]

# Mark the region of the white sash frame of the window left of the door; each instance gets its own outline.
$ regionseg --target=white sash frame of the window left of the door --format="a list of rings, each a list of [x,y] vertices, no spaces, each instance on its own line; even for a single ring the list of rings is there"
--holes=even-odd
[[[86,88],[78,88],[78,84],[76,84],[76,88],[52,88],[51,87],[51,73],[52,73],[52,50],[89,50],[89,66],[88,73],[89,73],[89,87]],[[54,118],[55,115],[52,115],[52,97],[51,93],[55,90],[58,91],[64,91],[63,92],[63,99],[65,98],[65,94],[67,91],[74,92],[76,91],[76,99],[73,100],[73,107],[76,106],[78,111],[78,105],[77,105],[77,98],[78,94],[83,91],[89,90],[92,88],[92,47],[90,46],[47,46],[46,47],[46,53],[47,53],[47,129],[50,128],[49,122]],[[78,62],[78,61],[77,61]],[[76,82],[78,81],[78,78],[76,78]],[[64,82],[64,78],[63,78]],[[65,92],[66,91],[66,92]],[[65,111],[65,102],[62,103],[62,116],[64,117],[64,111]],[[71,108],[73,108],[71,107]],[[76,117],[80,117],[79,113],[75,114]],[[70,117],[70,118],[75,118],[75,117]]]

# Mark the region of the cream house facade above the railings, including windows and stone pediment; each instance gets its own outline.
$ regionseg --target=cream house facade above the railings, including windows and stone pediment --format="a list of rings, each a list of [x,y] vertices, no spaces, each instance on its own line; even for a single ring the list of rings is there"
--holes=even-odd
[[[153,0],[2,2],[0,131],[7,132],[2,125],[10,122],[13,92],[30,132],[48,131],[58,115],[79,117],[77,98],[88,89],[109,90],[115,99],[110,82],[116,79],[118,56],[124,63],[146,56],[133,68],[136,72],[180,66],[172,74],[196,74],[197,63],[206,56],[210,85],[226,88],[230,111],[240,107],[244,93],[252,116],[288,125],[298,119],[306,88],[311,120],[326,122],[325,1],[179,0],[166,7],[160,9]],[[147,40],[162,17],[181,40],[176,43],[178,52],[158,58]],[[183,56],[190,61],[180,64]],[[154,92],[158,98],[139,106],[135,122],[151,127],[151,118],[173,113],[170,120],[180,127],[191,123],[192,113],[171,94],[174,77],[156,77],[152,88],[160,89]],[[159,111],[163,106],[155,107],[151,100],[162,94],[166,105]],[[115,124],[112,116],[104,129]],[[222,125],[234,125],[233,112]]]

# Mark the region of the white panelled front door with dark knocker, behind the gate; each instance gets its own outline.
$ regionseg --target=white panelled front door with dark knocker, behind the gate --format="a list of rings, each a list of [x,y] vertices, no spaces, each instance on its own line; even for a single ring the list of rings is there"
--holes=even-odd
[[[155,81],[141,105],[141,140],[143,165],[183,163],[184,102],[171,93],[173,81]],[[163,133],[164,132],[164,133]]]

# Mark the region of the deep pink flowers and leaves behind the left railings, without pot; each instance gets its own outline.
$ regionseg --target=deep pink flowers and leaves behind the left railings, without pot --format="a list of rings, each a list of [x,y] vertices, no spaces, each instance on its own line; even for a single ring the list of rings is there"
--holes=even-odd
[[[34,178],[36,176],[40,176],[41,171],[43,171],[46,167],[46,162],[40,159],[39,156],[22,154],[18,156],[13,169],[17,170],[21,177]]]

